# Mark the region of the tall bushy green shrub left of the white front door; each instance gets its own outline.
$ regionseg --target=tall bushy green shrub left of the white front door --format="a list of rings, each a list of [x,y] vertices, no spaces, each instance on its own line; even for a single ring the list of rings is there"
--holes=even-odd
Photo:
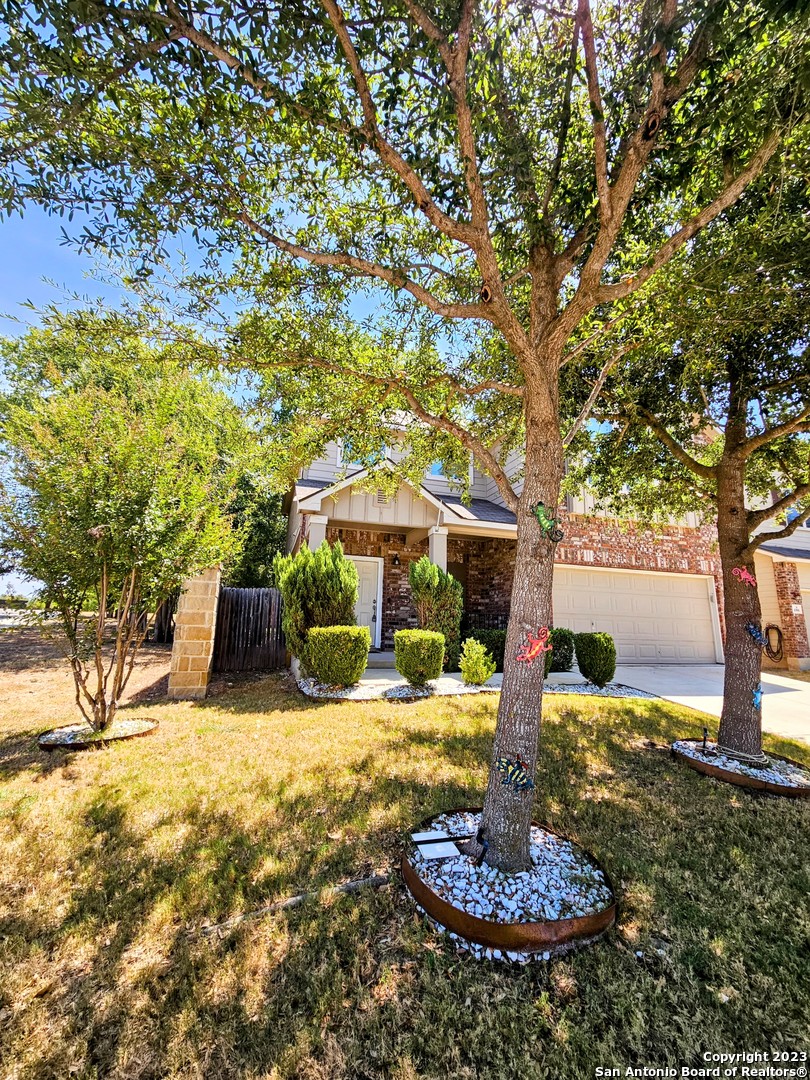
[[[313,626],[353,626],[357,568],[343,555],[340,541],[324,540],[318,551],[305,544],[295,555],[273,559],[283,608],[281,625],[287,648],[309,667],[307,637]]]

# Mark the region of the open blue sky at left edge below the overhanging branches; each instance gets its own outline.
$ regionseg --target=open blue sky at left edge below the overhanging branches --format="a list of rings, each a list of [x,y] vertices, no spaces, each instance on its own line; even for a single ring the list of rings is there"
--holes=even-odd
[[[0,221],[0,335],[13,337],[24,324],[36,322],[36,313],[21,307],[27,300],[38,307],[58,303],[67,291],[116,302],[117,289],[86,276],[94,272],[93,260],[60,245],[63,224],[62,218],[49,217],[36,207],[24,218]],[[23,325],[13,319],[22,320]],[[14,575],[0,575],[0,595],[30,593],[32,589]]]

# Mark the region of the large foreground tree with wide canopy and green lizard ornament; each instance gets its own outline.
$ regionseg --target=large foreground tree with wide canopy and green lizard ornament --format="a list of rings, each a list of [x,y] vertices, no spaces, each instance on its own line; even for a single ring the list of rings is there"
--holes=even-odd
[[[516,656],[551,620],[531,509],[559,497],[561,368],[772,167],[798,30],[727,0],[0,12],[0,204],[89,214],[81,242],[134,276],[195,239],[197,310],[219,286],[254,306],[231,343],[276,373],[291,472],[396,413],[403,469],[463,451],[498,485],[517,551],[492,766],[534,775],[543,666]],[[490,864],[528,864],[531,801],[490,770]]]

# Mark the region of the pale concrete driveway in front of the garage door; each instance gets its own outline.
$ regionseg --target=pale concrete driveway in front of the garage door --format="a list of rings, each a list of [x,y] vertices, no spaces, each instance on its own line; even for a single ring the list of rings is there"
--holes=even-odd
[[[724,671],[723,664],[627,664],[617,667],[613,678],[719,716]],[[762,730],[810,743],[810,683],[762,672]]]

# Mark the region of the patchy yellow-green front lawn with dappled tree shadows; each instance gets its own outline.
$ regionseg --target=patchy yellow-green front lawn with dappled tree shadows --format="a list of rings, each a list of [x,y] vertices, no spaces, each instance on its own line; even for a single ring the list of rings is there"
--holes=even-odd
[[[394,866],[414,823],[480,801],[496,707],[308,702],[270,677],[136,710],[160,719],[146,739],[45,755],[45,725],[6,700],[0,1072],[585,1080],[806,1048],[810,807],[673,762],[649,743],[703,718],[658,701],[546,701],[536,816],[613,878],[619,926],[596,945],[480,963],[399,879],[193,933]]]

